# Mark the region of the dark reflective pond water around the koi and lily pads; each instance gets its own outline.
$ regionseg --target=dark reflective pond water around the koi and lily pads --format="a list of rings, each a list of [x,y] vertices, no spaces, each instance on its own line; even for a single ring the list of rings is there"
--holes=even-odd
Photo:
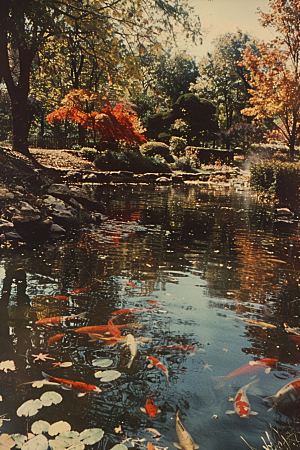
[[[270,423],[297,424],[293,404],[267,412],[264,398],[300,376],[298,343],[283,327],[300,323],[298,222],[274,220],[271,207],[235,190],[102,186],[94,195],[107,220],[67,241],[2,254],[0,415],[10,420],[0,431],[26,435],[36,421],[66,421],[74,431],[104,431],[86,448],[150,441],[173,449],[179,411],[200,449],[242,450],[241,436],[261,449]],[[43,321],[59,316],[67,318]],[[108,322],[105,330],[76,331]],[[165,369],[151,367],[148,356]],[[278,364],[251,372],[264,358]],[[243,374],[221,378],[245,365]],[[42,372],[101,392],[78,397],[61,385],[35,387]],[[254,380],[247,396],[258,414],[226,414],[229,399]],[[29,417],[16,413],[48,391],[62,401]],[[141,411],[149,398],[161,410],[154,418]]]

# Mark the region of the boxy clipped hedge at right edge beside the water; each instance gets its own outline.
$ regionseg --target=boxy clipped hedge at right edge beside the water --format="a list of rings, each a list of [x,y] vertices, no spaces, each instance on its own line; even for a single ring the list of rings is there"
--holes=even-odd
[[[253,164],[250,169],[253,190],[280,199],[295,197],[300,188],[300,165],[268,161]]]

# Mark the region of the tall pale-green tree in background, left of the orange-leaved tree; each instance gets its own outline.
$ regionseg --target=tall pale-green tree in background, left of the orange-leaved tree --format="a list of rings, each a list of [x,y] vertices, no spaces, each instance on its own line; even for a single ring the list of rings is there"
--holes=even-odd
[[[192,92],[216,104],[223,130],[241,121],[240,111],[249,100],[246,69],[238,63],[242,61],[244,50],[253,45],[254,40],[240,30],[218,36],[214,41],[214,51],[202,58],[200,75],[191,85]]]

